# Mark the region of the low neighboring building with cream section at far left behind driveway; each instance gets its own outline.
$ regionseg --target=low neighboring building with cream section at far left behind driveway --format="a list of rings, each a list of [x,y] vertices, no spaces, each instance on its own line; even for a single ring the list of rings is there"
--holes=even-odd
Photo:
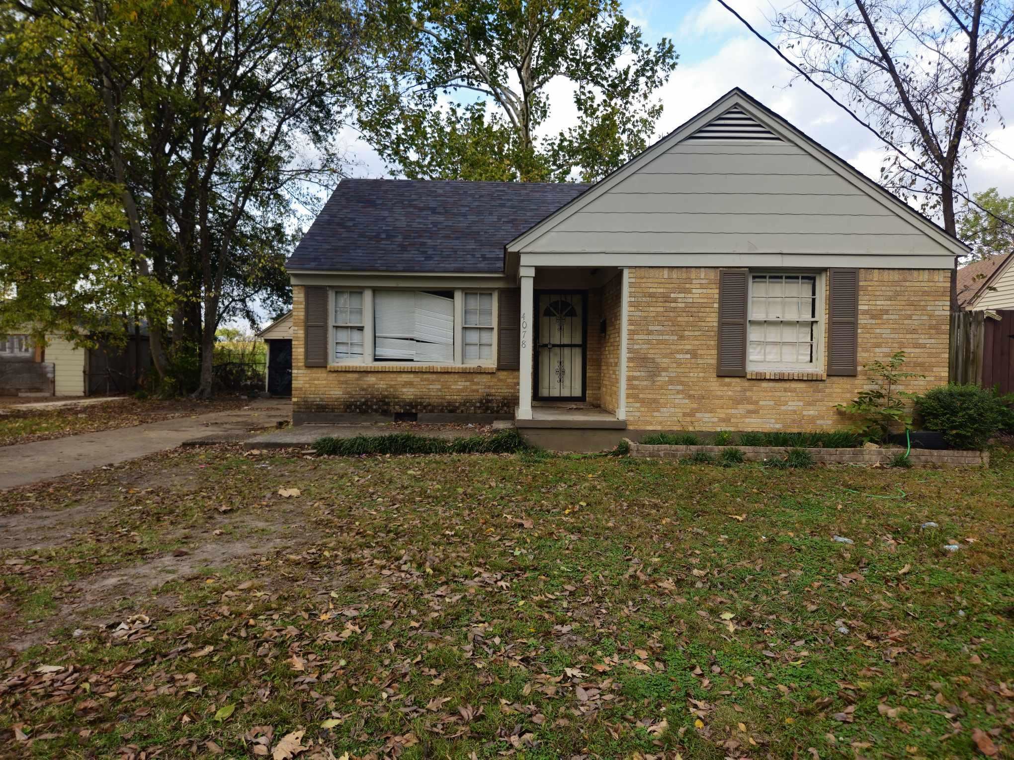
[[[0,396],[84,396],[137,388],[150,363],[147,331],[126,347],[77,348],[59,335],[35,346],[28,330],[0,337]]]

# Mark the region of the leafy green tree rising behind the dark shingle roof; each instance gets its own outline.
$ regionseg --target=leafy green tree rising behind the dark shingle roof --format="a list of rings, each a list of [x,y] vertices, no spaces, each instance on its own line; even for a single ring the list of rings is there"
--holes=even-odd
[[[392,73],[359,124],[411,178],[600,178],[645,148],[677,59],[668,40],[644,43],[618,0],[405,0],[384,21]],[[576,87],[578,123],[540,139],[558,79]]]

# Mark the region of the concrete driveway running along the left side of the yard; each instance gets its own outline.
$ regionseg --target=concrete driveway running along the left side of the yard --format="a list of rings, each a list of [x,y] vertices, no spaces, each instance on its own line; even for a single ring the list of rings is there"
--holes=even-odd
[[[275,428],[292,416],[288,400],[259,399],[233,411],[184,416],[161,423],[120,428],[101,433],[56,438],[52,441],[0,446],[0,489],[49,480],[106,464],[173,449],[184,441],[211,434],[230,434],[234,440],[249,431]]]

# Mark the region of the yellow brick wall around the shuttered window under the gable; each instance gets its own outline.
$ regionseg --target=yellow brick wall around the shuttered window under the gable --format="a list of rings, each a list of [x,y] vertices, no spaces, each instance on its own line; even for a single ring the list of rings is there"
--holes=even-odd
[[[859,377],[826,380],[717,377],[718,273],[718,269],[694,268],[630,270],[630,429],[811,431],[848,427],[849,421],[834,404],[851,400],[868,386],[863,364],[886,360],[895,351],[908,355],[907,370],[927,376],[907,381],[906,390],[923,391],[947,382],[948,270],[860,270]],[[605,303],[608,314],[608,288]],[[608,346],[609,335],[606,353]],[[822,355],[826,362],[826,351]],[[612,397],[607,385],[603,376],[603,406]]]

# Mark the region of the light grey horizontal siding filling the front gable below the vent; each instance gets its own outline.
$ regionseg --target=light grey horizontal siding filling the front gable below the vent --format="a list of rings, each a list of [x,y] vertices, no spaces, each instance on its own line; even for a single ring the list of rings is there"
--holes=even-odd
[[[944,254],[856,183],[788,143],[678,143],[524,252]]]

